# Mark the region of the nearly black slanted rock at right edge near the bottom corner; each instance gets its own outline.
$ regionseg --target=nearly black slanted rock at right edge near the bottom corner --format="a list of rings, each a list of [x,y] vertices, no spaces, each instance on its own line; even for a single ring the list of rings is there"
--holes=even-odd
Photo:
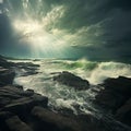
[[[117,110],[116,118],[131,126],[131,98]]]

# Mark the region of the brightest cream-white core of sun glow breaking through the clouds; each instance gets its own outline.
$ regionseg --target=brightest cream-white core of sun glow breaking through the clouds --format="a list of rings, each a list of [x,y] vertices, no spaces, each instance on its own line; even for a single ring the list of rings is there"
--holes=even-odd
[[[46,56],[49,53],[53,56],[53,52],[61,56],[66,44],[62,38],[46,31],[46,26],[43,22],[35,20],[15,20],[13,27],[21,35],[20,40],[29,45],[33,56],[40,57],[40,52]]]

